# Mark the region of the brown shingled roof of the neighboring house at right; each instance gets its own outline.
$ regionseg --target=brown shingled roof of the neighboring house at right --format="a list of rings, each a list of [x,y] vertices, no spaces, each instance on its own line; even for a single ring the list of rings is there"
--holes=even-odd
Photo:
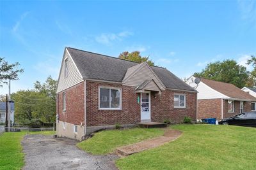
[[[205,78],[200,78],[203,83],[211,87],[212,89],[221,92],[225,96],[235,99],[248,99],[256,101],[256,98],[252,95],[244,92],[243,90],[239,89],[235,85],[230,83],[224,83],[221,81],[209,80]]]

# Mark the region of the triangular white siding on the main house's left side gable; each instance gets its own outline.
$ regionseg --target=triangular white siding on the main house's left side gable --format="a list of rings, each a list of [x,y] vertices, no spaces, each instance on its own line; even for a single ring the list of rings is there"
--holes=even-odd
[[[65,77],[65,70],[64,70],[65,69],[64,62],[66,59],[68,59],[68,76],[67,77]],[[79,73],[76,67],[76,64],[74,63],[74,60],[69,55],[67,49],[65,49],[63,59],[61,62],[61,70],[60,70],[60,75],[58,80],[57,93],[65,89],[68,89],[69,87],[72,87],[77,83],[80,83],[81,81],[83,81],[83,78]]]

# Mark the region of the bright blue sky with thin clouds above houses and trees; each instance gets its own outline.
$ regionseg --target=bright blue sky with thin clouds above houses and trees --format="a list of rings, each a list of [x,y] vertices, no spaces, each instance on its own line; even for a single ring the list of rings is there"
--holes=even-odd
[[[24,68],[13,92],[57,79],[65,46],[140,50],[180,78],[216,60],[244,65],[256,54],[256,1],[0,1],[0,57]]]

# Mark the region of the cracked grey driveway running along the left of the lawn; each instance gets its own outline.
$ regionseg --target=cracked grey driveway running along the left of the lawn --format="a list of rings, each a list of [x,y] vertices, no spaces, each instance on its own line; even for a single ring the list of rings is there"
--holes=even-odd
[[[52,136],[29,135],[22,140],[23,169],[116,169],[116,155],[91,155],[76,147],[76,141]]]

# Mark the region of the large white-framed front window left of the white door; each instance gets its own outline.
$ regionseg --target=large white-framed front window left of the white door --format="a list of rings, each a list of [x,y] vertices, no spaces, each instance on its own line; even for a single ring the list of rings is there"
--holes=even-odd
[[[120,109],[120,89],[100,87],[99,108]]]

